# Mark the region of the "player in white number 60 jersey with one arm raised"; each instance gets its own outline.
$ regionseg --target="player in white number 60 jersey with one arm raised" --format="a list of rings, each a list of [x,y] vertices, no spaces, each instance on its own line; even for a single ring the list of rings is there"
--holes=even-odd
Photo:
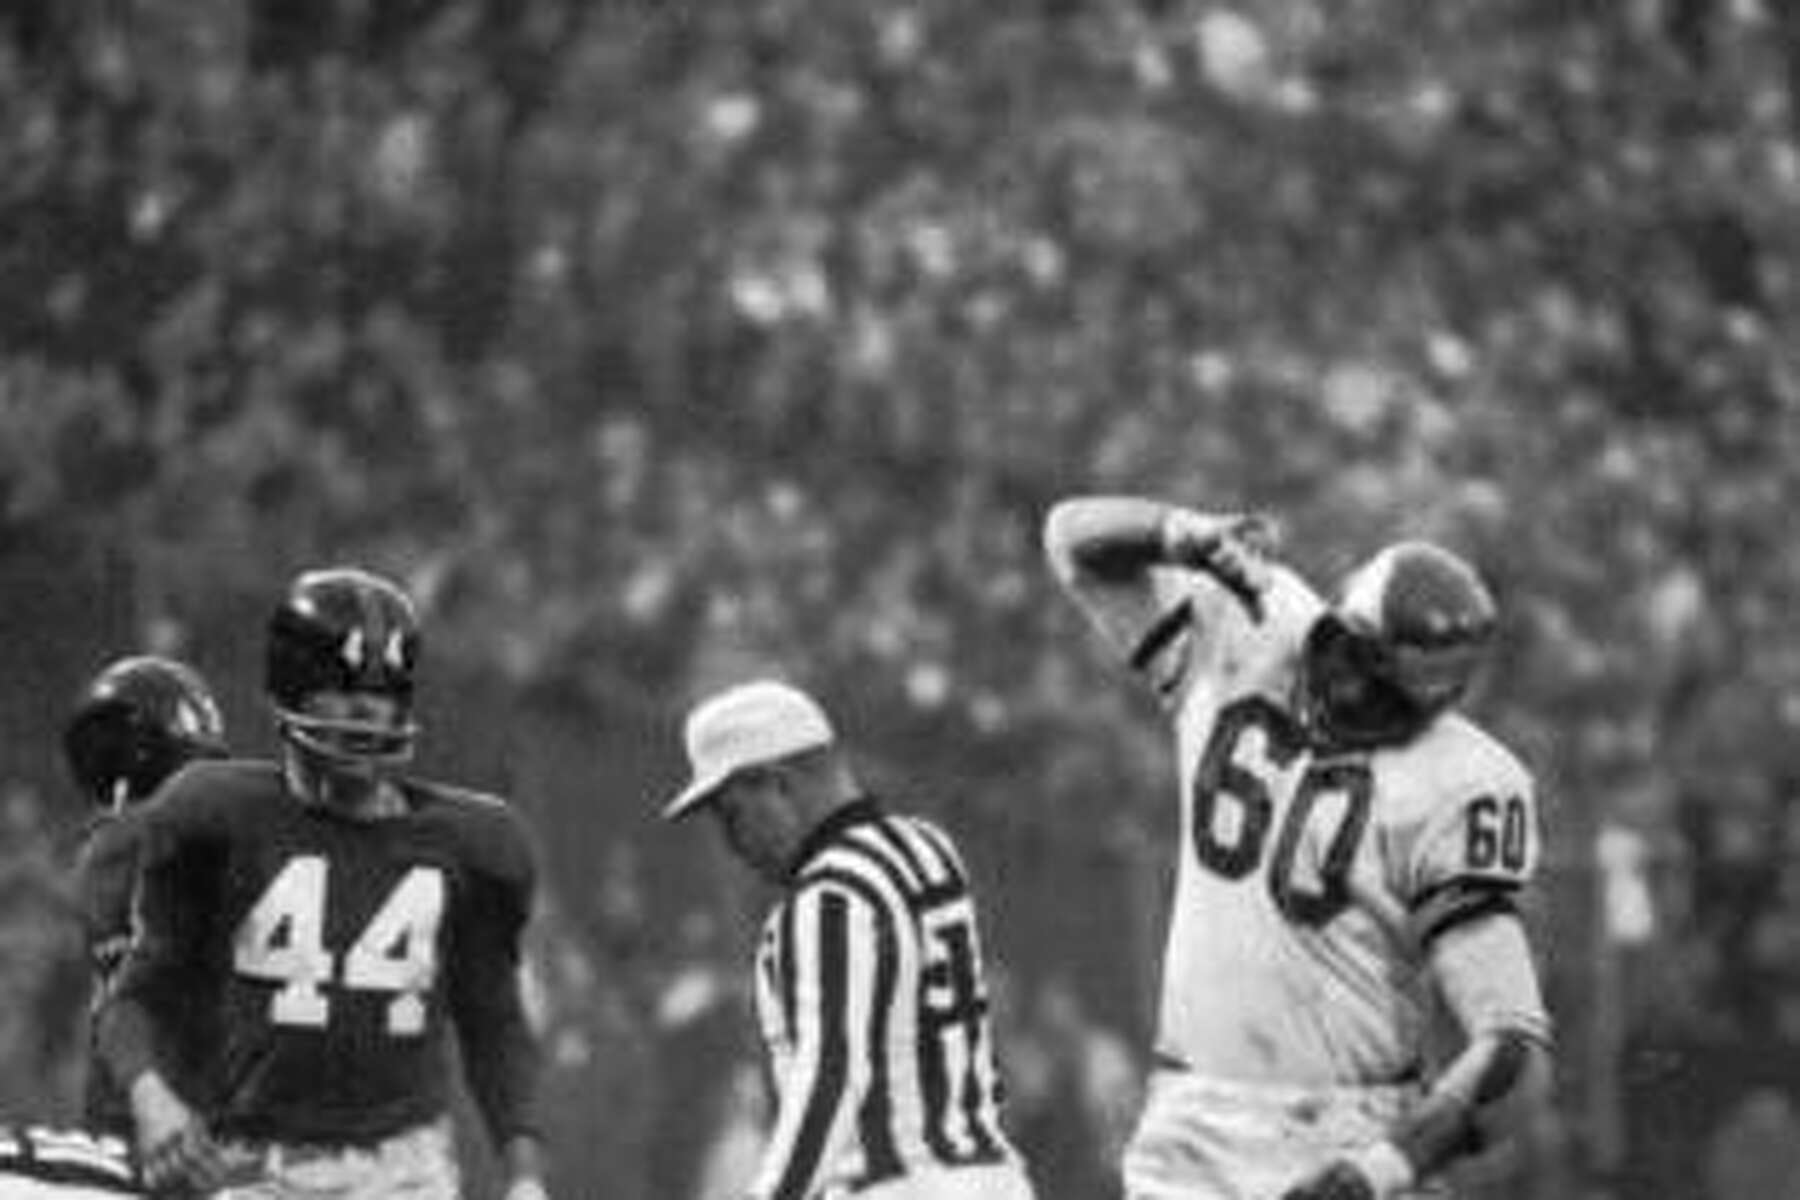
[[[1454,711],[1496,624],[1460,558],[1382,549],[1327,604],[1267,527],[1057,504],[1058,581],[1175,729],[1181,849],[1132,1200],[1442,1195],[1550,1069],[1517,898],[1532,777]],[[1453,1018],[1453,1025],[1438,1020]],[[1460,1033],[1433,1058],[1436,1031]]]

